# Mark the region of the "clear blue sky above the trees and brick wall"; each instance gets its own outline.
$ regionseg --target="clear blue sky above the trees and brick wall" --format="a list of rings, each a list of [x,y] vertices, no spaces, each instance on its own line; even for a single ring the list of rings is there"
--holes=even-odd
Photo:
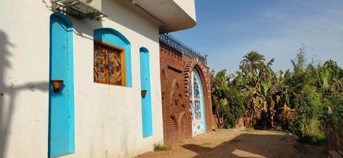
[[[239,69],[255,50],[274,70],[292,69],[290,60],[305,43],[307,57],[343,66],[343,0],[196,0],[197,25],[174,32],[202,54],[215,71]]]

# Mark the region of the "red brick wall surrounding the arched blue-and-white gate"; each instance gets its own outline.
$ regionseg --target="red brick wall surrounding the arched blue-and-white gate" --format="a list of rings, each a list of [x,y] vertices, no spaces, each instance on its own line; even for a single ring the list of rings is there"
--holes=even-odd
[[[213,125],[209,67],[160,43],[163,135],[165,144],[192,137],[189,81],[191,71],[200,75],[204,93],[206,132]]]

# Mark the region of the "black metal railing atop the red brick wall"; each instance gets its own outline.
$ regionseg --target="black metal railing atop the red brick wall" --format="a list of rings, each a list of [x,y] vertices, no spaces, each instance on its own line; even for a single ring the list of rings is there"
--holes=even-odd
[[[184,43],[181,43],[170,34],[160,34],[160,42],[171,47],[172,49],[175,49],[177,52],[184,54],[185,56],[199,58],[200,61],[206,63],[206,57],[202,56],[200,53],[196,52],[194,49],[191,49],[191,47],[185,45]]]

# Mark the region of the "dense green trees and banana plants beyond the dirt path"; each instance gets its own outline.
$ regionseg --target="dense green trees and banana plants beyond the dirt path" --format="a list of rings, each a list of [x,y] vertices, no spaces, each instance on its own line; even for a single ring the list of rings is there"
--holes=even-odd
[[[291,60],[293,69],[272,70],[274,58],[265,62],[258,52],[243,57],[240,71],[211,72],[213,111],[222,128],[244,117],[245,126],[292,131],[303,142],[326,139],[342,148],[343,69],[333,60],[307,62],[304,47]],[[333,141],[332,141],[333,140]]]

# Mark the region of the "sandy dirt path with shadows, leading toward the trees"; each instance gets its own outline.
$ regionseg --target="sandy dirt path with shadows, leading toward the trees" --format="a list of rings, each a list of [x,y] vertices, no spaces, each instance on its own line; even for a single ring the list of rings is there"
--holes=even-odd
[[[170,150],[139,155],[157,157],[326,157],[324,148],[300,144],[292,135],[277,131],[213,131],[186,139]]]

